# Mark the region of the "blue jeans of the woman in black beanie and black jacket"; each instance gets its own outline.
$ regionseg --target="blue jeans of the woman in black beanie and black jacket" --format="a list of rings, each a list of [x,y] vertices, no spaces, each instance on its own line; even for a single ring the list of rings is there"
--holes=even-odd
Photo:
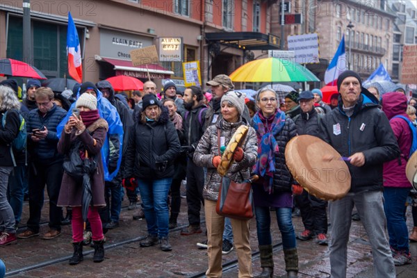
[[[168,192],[172,179],[139,179],[140,196],[148,234],[158,238],[168,236]]]

